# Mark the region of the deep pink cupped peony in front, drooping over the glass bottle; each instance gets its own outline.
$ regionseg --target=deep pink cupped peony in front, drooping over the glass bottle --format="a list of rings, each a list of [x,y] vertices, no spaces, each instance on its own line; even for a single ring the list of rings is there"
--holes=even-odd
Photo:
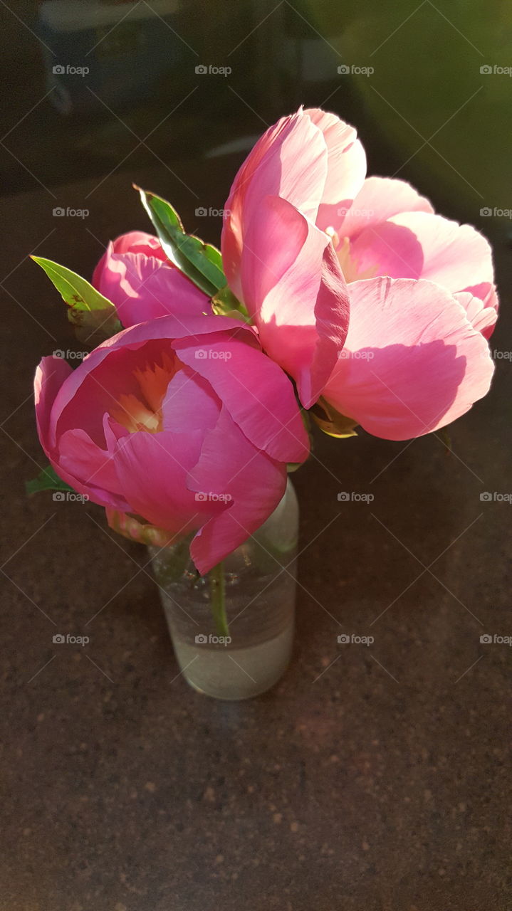
[[[36,372],[41,445],[68,484],[169,537],[197,531],[206,573],[279,503],[309,452],[292,384],[236,320],[178,316],[109,339],[76,370]]]

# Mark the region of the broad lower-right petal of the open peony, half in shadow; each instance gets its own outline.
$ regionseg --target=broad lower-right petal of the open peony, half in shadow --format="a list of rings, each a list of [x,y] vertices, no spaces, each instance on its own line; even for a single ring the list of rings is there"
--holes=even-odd
[[[488,391],[493,363],[464,307],[430,281],[350,286],[351,322],[324,397],[384,439],[420,436],[464,415]]]

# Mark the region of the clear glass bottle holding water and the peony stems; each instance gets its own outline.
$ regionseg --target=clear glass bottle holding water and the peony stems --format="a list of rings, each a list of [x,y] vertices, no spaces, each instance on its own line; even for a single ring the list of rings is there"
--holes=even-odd
[[[221,565],[228,630],[220,629],[212,610],[220,568],[201,578],[189,558],[189,540],[148,548],[179,668],[195,690],[216,699],[250,699],[286,670],[298,529],[299,505],[289,478],[279,506]]]

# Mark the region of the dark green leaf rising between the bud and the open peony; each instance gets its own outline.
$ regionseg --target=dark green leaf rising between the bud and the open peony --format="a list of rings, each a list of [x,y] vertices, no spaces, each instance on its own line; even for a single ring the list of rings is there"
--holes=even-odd
[[[140,200],[159,235],[169,260],[209,297],[223,288],[226,276],[220,251],[193,234],[186,234],[178,212],[169,202],[140,187]]]

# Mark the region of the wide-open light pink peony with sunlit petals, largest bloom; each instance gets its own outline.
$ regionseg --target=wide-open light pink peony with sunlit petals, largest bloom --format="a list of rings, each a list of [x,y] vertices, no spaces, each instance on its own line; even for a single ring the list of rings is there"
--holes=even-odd
[[[491,250],[404,181],[365,169],[355,130],[333,114],[282,118],[233,182],[222,255],[302,404],[323,394],[370,433],[406,439],[489,388]]]

